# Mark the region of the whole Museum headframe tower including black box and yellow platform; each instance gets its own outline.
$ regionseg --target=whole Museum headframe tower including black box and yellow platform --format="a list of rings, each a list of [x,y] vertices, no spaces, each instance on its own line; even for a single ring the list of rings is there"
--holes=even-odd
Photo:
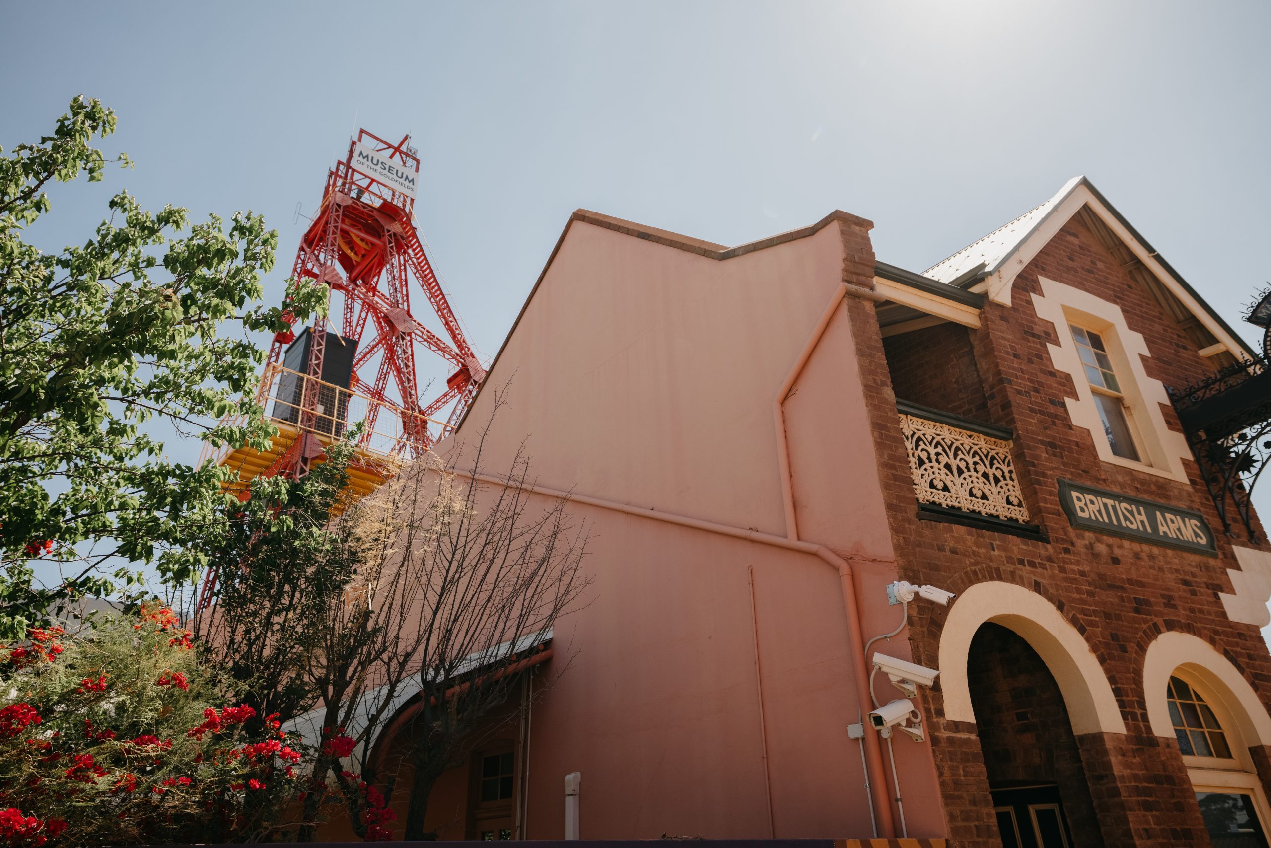
[[[257,400],[280,435],[268,451],[215,458],[236,467],[236,489],[258,474],[304,477],[332,439],[361,426],[350,488],[365,495],[450,432],[486,376],[414,228],[419,159],[408,142],[360,130],[327,174],[287,301],[295,287],[327,285],[328,317],[273,337]],[[412,289],[423,313],[412,311]],[[418,367],[438,388],[421,386]]]

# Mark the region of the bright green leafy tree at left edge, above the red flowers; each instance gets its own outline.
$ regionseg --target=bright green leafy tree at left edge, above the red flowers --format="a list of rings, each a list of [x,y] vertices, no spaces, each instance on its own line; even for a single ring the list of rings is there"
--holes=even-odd
[[[252,400],[263,356],[247,333],[325,308],[314,285],[291,290],[291,314],[259,305],[277,233],[250,212],[191,225],[184,209],[150,214],[119,192],[78,247],[28,243],[46,187],[128,164],[92,146],[114,126],[76,98],[39,144],[0,150],[0,638],[127,581],[114,563],[155,563],[174,581],[205,566],[180,542],[216,519],[233,472],[167,459],[147,422],[263,448],[275,431]],[[216,423],[230,412],[235,425]],[[38,558],[57,562],[58,584],[34,578]]]

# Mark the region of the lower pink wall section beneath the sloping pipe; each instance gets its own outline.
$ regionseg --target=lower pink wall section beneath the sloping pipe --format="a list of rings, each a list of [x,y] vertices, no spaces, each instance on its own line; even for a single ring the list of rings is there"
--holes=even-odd
[[[562,838],[563,778],[582,772],[582,837],[769,835],[754,566],[773,817],[779,837],[866,834],[838,576],[822,561],[580,506],[590,605],[555,628],[534,708],[534,839]]]

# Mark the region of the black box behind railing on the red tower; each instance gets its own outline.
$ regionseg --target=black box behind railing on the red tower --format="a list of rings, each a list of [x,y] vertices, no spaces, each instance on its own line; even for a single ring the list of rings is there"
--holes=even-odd
[[[357,339],[344,338],[324,329],[327,347],[322,357],[322,383],[318,385],[318,399],[314,404],[314,430],[327,436],[339,437],[348,425],[348,390],[353,375],[353,356],[357,353]],[[287,346],[282,355],[282,367],[287,369],[278,379],[278,392],[275,395],[271,416],[278,421],[299,423],[300,406],[304,402],[304,378],[309,373],[309,352],[313,347],[314,329],[305,327],[300,336]],[[295,371],[295,374],[292,374]]]

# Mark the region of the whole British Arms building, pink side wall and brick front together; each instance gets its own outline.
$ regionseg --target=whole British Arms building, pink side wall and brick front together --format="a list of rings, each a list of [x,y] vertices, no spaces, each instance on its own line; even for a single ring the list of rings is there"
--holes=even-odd
[[[871,228],[572,216],[484,451],[571,492],[592,592],[444,838],[1267,844],[1271,548],[1220,479],[1256,352],[1085,179],[924,273]]]

